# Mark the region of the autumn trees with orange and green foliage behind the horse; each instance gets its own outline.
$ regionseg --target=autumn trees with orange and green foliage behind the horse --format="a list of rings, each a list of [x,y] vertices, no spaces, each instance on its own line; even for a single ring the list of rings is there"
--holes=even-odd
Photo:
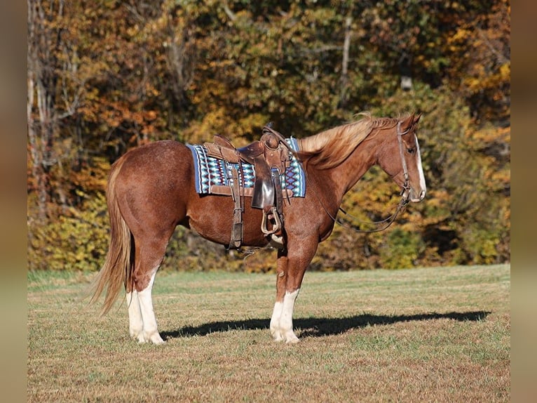
[[[238,145],[273,121],[311,136],[368,110],[421,112],[428,195],[390,229],[337,226],[313,270],[510,261],[510,1],[27,0],[30,270],[97,270],[104,187],[131,147],[220,133]],[[385,218],[379,169],[345,201]],[[177,229],[165,267],[266,271]]]

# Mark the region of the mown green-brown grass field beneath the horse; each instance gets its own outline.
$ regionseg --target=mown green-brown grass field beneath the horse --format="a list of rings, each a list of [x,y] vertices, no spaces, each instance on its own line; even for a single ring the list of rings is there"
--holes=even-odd
[[[161,272],[164,345],[100,317],[92,275],[28,275],[28,402],[509,402],[510,265],[306,272],[271,340],[275,275]]]

